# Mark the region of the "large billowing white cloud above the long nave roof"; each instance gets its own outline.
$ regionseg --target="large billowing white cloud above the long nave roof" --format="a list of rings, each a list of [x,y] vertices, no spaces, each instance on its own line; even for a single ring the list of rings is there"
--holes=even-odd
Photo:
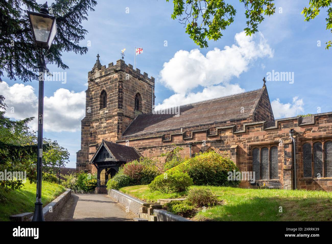
[[[246,72],[256,59],[273,57],[273,50],[261,33],[251,37],[237,33],[234,40],[232,46],[214,48],[205,56],[199,49],[177,51],[159,73],[160,82],[175,94],[156,109],[243,92],[238,84],[231,85],[229,81]],[[203,91],[191,92],[198,87]]]

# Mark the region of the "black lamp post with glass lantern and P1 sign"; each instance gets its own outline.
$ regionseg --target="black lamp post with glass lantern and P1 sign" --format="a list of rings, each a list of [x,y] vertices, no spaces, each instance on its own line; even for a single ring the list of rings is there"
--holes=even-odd
[[[46,61],[43,49],[46,51],[52,44],[56,34],[55,17],[49,15],[47,2],[42,5],[39,13],[27,11],[30,20],[32,33],[37,47],[41,52],[38,53],[39,68],[39,93],[38,93],[38,152],[37,152],[37,196],[35,203],[35,213],[32,221],[45,221],[42,213],[41,202],[41,170],[42,170],[42,127],[43,127],[43,107],[44,107],[44,73]]]

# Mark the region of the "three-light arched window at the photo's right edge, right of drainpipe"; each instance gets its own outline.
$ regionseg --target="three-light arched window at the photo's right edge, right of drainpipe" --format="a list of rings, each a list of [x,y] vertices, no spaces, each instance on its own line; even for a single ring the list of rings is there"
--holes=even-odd
[[[332,141],[324,144],[318,141],[313,146],[306,142],[302,145],[302,152],[303,177],[332,177]]]

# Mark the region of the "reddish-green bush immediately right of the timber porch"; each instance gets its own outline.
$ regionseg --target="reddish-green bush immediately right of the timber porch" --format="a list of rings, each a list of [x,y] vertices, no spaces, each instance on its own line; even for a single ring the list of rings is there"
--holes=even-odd
[[[130,184],[149,184],[159,171],[154,165],[154,161],[149,158],[141,157],[139,160],[128,162],[123,167],[123,174],[130,178]]]

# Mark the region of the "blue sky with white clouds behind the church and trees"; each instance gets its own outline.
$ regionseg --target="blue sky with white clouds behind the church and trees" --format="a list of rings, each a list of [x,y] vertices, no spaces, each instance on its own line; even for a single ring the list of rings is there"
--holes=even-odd
[[[275,1],[275,15],[266,17],[259,25],[260,33],[247,42],[239,34],[246,27],[243,5],[239,1],[231,2],[237,10],[234,23],[223,31],[219,41],[209,41],[208,48],[200,49],[185,33],[184,26],[170,18],[172,1],[98,1],[95,12],[89,13],[88,21],[83,22],[89,33],[80,44],[86,46],[91,41],[88,53],[82,56],[72,52],[63,53],[62,60],[70,68],[66,70],[67,82],[45,83],[44,96],[48,102],[45,113],[49,113],[49,126],[45,125],[44,136],[57,140],[69,150],[70,163],[67,167],[75,167],[75,153],[80,149],[79,121],[85,109],[87,72],[93,67],[98,52],[102,65],[108,65],[120,59],[121,50],[126,48],[124,60],[133,64],[134,46],[143,47],[143,53],[137,56],[136,67],[141,73],[146,72],[149,77],[156,78],[156,105],[180,105],[181,101],[195,102],[229,95],[232,91],[258,89],[262,87],[262,79],[267,72],[275,70],[294,72],[292,84],[288,81],[267,81],[276,119],[315,114],[317,107],[320,107],[321,113],[332,111],[332,50],[325,50],[324,44],[332,39],[332,35],[325,30],[326,11],[321,11],[315,20],[304,22],[300,13],[303,4],[308,1]],[[126,13],[128,8],[129,13]],[[279,8],[282,8],[282,13],[279,13]],[[234,40],[236,35],[238,42]],[[167,46],[164,46],[165,41]],[[321,46],[317,46],[317,41],[321,41]],[[252,49],[241,46],[241,43],[253,44]],[[263,45],[262,50],[256,49],[259,44]],[[230,47],[228,54],[223,52],[225,46]],[[198,50],[191,52],[196,48]],[[247,48],[250,54],[243,54]],[[244,56],[237,60],[233,51]],[[208,52],[209,58],[206,58]],[[241,61],[246,63],[238,67]],[[234,69],[239,69],[238,72],[230,71],[233,70],[233,64],[236,66]],[[179,70],[174,72],[174,76],[169,75],[169,70],[174,66]],[[186,73],[189,72],[188,66],[195,71],[200,68],[208,70],[207,80],[195,83],[184,91],[179,87],[186,87],[192,81],[192,77]],[[48,64],[47,67],[51,72],[63,71],[56,65]],[[187,78],[175,80],[180,75]],[[5,102],[15,108],[15,112],[7,113],[7,116],[13,119],[36,116],[38,82],[23,83],[7,77],[3,77],[3,80],[5,83],[0,83],[0,86],[6,97]],[[19,92],[20,97],[12,96],[14,92]],[[174,94],[176,96],[172,96]],[[27,107],[27,103],[24,105],[24,100],[29,100],[31,106]],[[55,110],[56,113],[53,113]]]

